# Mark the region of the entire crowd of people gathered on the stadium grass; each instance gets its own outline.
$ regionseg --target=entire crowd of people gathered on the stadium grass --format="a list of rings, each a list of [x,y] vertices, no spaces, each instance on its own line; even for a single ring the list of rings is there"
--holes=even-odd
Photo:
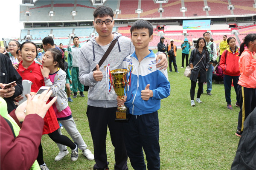
[[[78,159],[79,148],[88,160],[95,160],[94,170],[109,170],[105,144],[109,128],[115,148],[115,170],[128,170],[128,157],[135,170],[160,170],[157,111],[160,109],[160,100],[170,95],[166,71],[168,60],[169,72],[172,72],[173,63],[175,72],[179,73],[176,63],[177,46],[173,39],[169,45],[165,45],[165,38],[160,37],[158,52],[154,54],[148,49],[149,42],[153,40],[153,26],[148,21],[134,22],[129,39],[112,32],[114,20],[111,8],[98,6],[93,17],[93,25],[99,36],[92,37],[82,46],[79,45],[79,37],[73,37],[74,45],[68,48],[67,62],[63,45],[55,45],[52,37],[44,37],[41,48],[31,41],[20,45],[18,41],[12,40],[6,48],[8,51],[0,51],[1,168],[19,169],[22,166],[23,169],[49,170],[43,159],[41,145],[41,136],[48,134],[60,150],[55,161],[69,154],[68,146],[71,161]],[[181,48],[181,68],[185,66],[185,59],[186,67],[191,68],[191,106],[195,106],[195,102],[203,103],[200,96],[204,93],[204,83],[207,83],[206,92],[211,96],[212,82],[218,82],[224,83],[227,108],[232,110],[230,95],[233,82],[235,105],[240,107],[236,135],[241,136],[245,129],[245,119],[256,107],[256,34],[248,34],[240,48],[236,46],[234,37],[227,38],[224,35],[219,45],[219,62],[216,60],[217,45],[211,40],[209,32],[198,38],[190,57],[192,47],[187,38]],[[111,70],[133,68],[131,84],[123,99],[106,83],[109,81],[105,74],[107,65]],[[22,80],[25,79],[32,82],[31,92],[27,94],[27,101],[18,105],[24,99],[21,94]],[[5,88],[10,82],[13,82],[12,85]],[[194,100],[196,84],[198,91]],[[43,86],[47,90],[36,94]],[[84,97],[83,91],[87,86],[86,115],[94,154],[79,133],[68,105],[77,97],[78,92]],[[73,99],[70,97],[71,91]],[[42,107],[35,107],[35,103],[40,103]],[[117,106],[121,105],[128,107],[127,114],[131,115],[128,123],[115,122]],[[32,119],[37,122],[33,125],[35,128],[29,128]],[[72,140],[62,135],[60,124]],[[3,151],[2,143],[5,144]],[[31,150],[33,154],[28,154]],[[19,155],[14,157],[12,154]],[[18,161],[14,163],[14,159]]]

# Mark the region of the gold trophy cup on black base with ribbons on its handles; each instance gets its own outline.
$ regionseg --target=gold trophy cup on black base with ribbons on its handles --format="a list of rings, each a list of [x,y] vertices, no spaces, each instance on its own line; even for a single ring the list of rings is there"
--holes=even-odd
[[[115,69],[110,71],[112,82],[111,85],[113,85],[113,88],[116,92],[116,95],[119,97],[119,99],[124,99],[125,96],[125,88],[127,87],[127,79],[126,74],[129,71],[125,68]],[[117,107],[116,111],[116,122],[128,122],[130,118],[130,114],[126,113],[127,108],[125,105],[122,105],[120,107]]]

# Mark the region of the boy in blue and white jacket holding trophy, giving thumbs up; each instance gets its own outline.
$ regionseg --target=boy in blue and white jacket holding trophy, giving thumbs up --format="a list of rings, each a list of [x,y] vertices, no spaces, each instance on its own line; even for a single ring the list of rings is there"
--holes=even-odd
[[[159,122],[157,110],[160,99],[170,95],[167,71],[156,67],[156,55],[148,49],[153,40],[153,26],[145,20],[137,20],[131,26],[131,41],[135,52],[123,60],[123,68],[132,63],[131,87],[118,105],[129,108],[131,118],[123,123],[127,154],[134,170],[160,170]],[[159,52],[158,52],[159,53]],[[157,53],[157,54],[158,54]]]

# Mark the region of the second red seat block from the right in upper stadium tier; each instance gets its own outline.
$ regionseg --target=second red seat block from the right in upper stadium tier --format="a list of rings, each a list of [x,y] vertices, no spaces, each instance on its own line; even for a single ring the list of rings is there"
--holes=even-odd
[[[207,0],[207,4],[211,8],[209,16],[231,15],[231,11],[227,9],[227,0]]]

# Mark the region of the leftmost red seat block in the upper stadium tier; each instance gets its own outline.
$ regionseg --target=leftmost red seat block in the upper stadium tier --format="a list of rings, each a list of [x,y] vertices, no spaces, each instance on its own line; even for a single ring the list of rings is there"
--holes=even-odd
[[[121,14],[118,14],[118,19],[124,18],[138,18],[138,14],[135,13],[135,10],[138,8],[139,0],[120,0]]]

